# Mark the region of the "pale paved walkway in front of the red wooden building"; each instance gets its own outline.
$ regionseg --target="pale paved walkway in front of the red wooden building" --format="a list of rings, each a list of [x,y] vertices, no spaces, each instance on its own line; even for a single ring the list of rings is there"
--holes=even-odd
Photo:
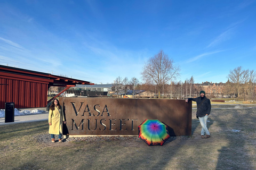
[[[18,123],[28,123],[28,122],[37,122],[37,121],[46,121],[48,120],[49,112],[43,114],[31,114],[24,116],[14,116],[14,122],[4,123],[5,118],[0,118],[0,126],[18,124]]]

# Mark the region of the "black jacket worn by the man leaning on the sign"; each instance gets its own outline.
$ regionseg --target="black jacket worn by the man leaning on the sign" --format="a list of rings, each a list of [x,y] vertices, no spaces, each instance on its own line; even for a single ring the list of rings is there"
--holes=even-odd
[[[204,97],[202,100],[204,100],[206,97]],[[198,105],[201,103],[201,97],[197,97],[197,98],[188,98],[188,101],[193,100],[196,101],[196,105],[198,107]],[[211,101],[210,99],[207,99],[199,106],[199,108],[197,109],[196,115],[198,117],[204,117],[206,114],[209,115],[211,112]]]

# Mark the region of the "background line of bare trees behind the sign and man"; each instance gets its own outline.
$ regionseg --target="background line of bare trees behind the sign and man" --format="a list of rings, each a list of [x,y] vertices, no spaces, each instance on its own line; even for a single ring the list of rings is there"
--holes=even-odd
[[[161,84],[161,88],[153,81],[140,82],[137,78],[128,81],[127,78],[116,78],[114,84],[119,93],[124,89],[138,89],[146,92],[141,97],[184,99],[199,96],[199,91],[206,91],[209,98],[236,98],[244,101],[256,100],[256,73],[254,70],[244,70],[241,66],[230,70],[225,83],[195,84],[193,76],[183,81],[172,81]],[[159,96],[159,97],[158,97]]]

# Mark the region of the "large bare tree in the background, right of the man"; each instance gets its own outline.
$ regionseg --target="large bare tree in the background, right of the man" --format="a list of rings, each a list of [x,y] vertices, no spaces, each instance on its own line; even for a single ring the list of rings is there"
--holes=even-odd
[[[229,71],[227,78],[231,83],[234,84],[233,89],[235,94],[237,94],[237,97],[239,97],[239,94],[242,91],[242,84],[245,83],[248,72],[249,70],[244,70],[242,66],[236,67],[234,70]]]

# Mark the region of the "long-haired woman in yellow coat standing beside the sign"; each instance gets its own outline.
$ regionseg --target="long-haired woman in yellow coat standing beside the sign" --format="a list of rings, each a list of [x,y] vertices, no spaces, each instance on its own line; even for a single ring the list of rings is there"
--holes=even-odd
[[[65,117],[58,99],[54,99],[49,109],[49,134],[51,134],[52,142],[55,142],[54,134],[59,135],[61,141],[62,126],[66,124]]]

